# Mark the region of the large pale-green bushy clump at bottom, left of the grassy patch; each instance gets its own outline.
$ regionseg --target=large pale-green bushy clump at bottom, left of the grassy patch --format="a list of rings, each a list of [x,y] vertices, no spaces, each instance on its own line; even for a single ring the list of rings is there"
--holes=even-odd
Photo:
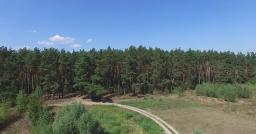
[[[54,134],[100,134],[101,126],[94,121],[81,103],[64,106],[53,124]]]

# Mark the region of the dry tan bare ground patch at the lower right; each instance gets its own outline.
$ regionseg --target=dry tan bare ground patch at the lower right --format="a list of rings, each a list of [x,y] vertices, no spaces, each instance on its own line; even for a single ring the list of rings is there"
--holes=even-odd
[[[152,111],[172,124],[181,134],[193,134],[195,128],[207,134],[256,134],[256,121],[208,107],[175,108]]]

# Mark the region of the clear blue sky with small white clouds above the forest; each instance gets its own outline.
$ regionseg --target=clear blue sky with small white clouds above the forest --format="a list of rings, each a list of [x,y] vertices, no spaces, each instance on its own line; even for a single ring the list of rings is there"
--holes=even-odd
[[[0,45],[255,52],[256,0],[0,0]]]

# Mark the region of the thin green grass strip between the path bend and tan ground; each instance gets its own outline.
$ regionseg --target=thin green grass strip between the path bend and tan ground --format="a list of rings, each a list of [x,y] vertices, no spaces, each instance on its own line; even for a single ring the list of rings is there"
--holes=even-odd
[[[208,105],[187,102],[183,98],[178,99],[158,99],[158,100],[135,100],[135,101],[123,101],[119,102],[123,105],[133,106],[136,108],[144,109],[156,109],[165,110],[171,108],[187,108],[187,107],[210,107]]]

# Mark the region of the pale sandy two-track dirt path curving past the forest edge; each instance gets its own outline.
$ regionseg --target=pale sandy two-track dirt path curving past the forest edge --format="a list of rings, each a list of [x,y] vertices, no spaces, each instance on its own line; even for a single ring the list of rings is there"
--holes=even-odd
[[[114,106],[118,106],[118,107],[121,107],[121,108],[126,108],[126,109],[129,109],[131,111],[135,111],[135,112],[141,113],[142,115],[147,116],[148,118],[152,119],[153,121],[155,121],[157,124],[159,124],[164,129],[165,134],[179,134],[179,132],[176,131],[173,128],[173,126],[171,126],[168,123],[166,123],[165,121],[163,121],[163,119],[160,119],[158,116],[155,116],[152,113],[149,113],[147,111],[141,110],[139,108],[134,108],[134,107],[131,107],[131,106],[126,106],[126,105],[117,104],[117,103],[102,103],[102,102],[85,101],[85,100],[83,100],[83,96],[75,97],[73,99],[75,99],[75,101],[80,102],[80,103],[82,103],[84,105],[114,105]],[[48,106],[64,106],[64,105],[70,105],[70,104],[72,104],[72,102],[57,103],[57,104],[51,104],[51,105],[48,105]]]

